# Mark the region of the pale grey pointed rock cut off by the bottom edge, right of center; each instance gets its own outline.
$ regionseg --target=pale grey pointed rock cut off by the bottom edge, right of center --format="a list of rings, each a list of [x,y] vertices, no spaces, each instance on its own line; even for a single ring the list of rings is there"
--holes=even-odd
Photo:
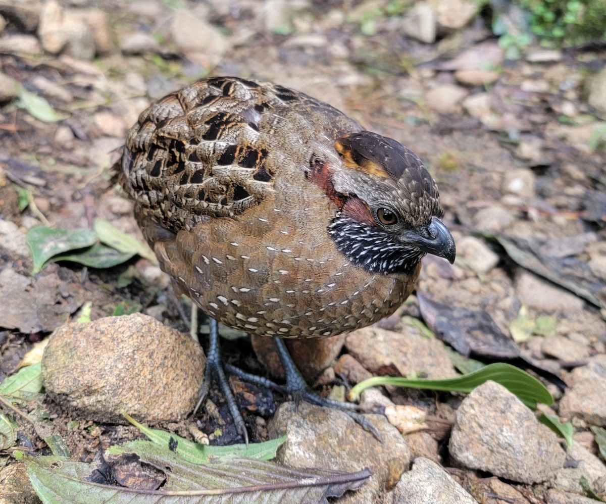
[[[412,469],[402,474],[393,494],[394,502],[406,504],[476,504],[441,466],[423,457],[415,459]]]

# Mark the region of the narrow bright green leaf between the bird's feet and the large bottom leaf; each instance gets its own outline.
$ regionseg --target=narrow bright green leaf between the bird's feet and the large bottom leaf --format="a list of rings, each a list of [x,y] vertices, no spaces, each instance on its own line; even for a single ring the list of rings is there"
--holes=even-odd
[[[276,457],[278,448],[286,442],[286,436],[279,437],[263,443],[252,443],[248,445],[230,445],[230,446],[209,446],[194,443],[184,437],[176,434],[167,433],[159,429],[150,429],[142,423],[137,422],[127,413],[123,413],[128,422],[136,426],[148,439],[161,446],[172,446],[176,442],[176,448],[173,450],[183,459],[196,464],[205,464],[218,458],[239,456],[250,459],[272,460]],[[111,450],[111,448],[109,448]],[[135,450],[136,451],[136,450]]]

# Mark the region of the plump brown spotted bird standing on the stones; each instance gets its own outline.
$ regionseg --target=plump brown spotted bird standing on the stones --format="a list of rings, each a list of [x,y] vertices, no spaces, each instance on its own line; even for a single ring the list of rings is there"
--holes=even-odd
[[[275,340],[289,394],[378,436],[355,405],[310,390],[283,339],[377,322],[411,294],[425,254],[454,262],[421,159],[300,91],[218,76],[143,111],[114,170],[176,293],[210,319],[201,401],[218,379],[248,443],[225,379],[222,322]]]

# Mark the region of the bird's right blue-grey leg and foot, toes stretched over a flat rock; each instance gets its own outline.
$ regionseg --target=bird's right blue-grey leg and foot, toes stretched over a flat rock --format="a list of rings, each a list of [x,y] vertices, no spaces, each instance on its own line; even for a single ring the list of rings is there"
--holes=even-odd
[[[365,431],[370,432],[373,436],[376,437],[379,441],[382,441],[381,434],[378,429],[368,420],[364,415],[357,413],[356,411],[351,411],[357,409],[358,406],[353,403],[341,402],[333,399],[327,399],[325,397],[321,397],[315,392],[311,391],[307,383],[305,383],[305,379],[301,376],[293,358],[288,353],[288,348],[286,348],[286,344],[284,340],[281,338],[273,338],[274,344],[276,346],[276,351],[278,352],[278,357],[280,358],[280,362],[282,363],[282,368],[284,368],[284,373],[286,375],[286,385],[285,390],[290,394],[295,402],[303,399],[311,404],[315,404],[318,406],[326,406],[327,408],[335,408],[336,410],[341,410],[343,413],[347,414],[347,416],[351,417],[356,423],[362,426]]]

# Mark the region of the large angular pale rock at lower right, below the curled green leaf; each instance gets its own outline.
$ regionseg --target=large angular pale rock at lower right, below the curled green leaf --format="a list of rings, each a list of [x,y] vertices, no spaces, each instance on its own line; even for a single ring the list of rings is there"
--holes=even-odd
[[[494,382],[479,386],[461,403],[449,448],[468,468],[522,483],[550,479],[566,459],[558,437]]]

